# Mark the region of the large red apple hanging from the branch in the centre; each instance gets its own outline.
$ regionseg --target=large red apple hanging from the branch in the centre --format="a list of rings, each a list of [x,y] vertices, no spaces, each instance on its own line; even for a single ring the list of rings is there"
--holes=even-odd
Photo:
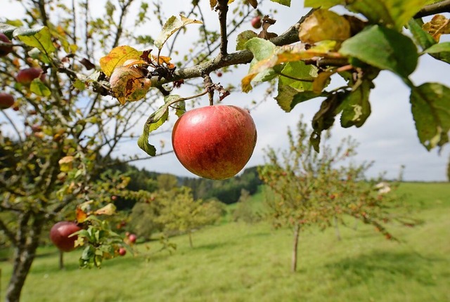
[[[190,110],[176,121],[172,145],[181,164],[195,175],[226,179],[243,169],[257,140],[248,111],[232,105]]]

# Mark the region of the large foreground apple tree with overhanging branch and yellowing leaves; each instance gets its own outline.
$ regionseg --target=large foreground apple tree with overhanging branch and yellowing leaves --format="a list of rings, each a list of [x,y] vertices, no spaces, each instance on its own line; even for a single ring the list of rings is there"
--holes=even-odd
[[[237,90],[213,83],[213,72],[250,63],[248,75],[231,86],[240,84],[249,92],[252,84],[278,80],[275,100],[286,112],[324,97],[310,138],[318,149],[321,132],[337,114],[344,127],[364,124],[371,114],[373,80],[389,70],[411,88],[420,143],[430,150],[448,142],[449,88],[416,86],[409,79],[420,55],[449,62],[449,44],[439,43],[448,33],[448,20],[442,15],[426,24],[421,20],[449,11],[448,1],[356,0],[343,6],[363,20],[328,9],[342,5],[340,0],[325,5],[307,0],[305,6],[314,9],[277,33],[271,31],[281,18],[275,11],[267,12],[258,32],[240,30],[269,0],[184,1],[184,15],[167,20],[162,11],[172,6],[169,1],[105,1],[104,15],[95,18],[91,7],[98,1],[16,2],[25,8],[23,18],[1,16],[0,21],[0,230],[15,248],[7,301],[20,298],[43,225],[91,200],[93,181],[107,165],[103,159],[117,155],[124,140],[135,139],[137,120],[148,117],[136,143],[150,156],[161,155],[149,138],[167,122],[169,111],[181,115],[186,100],[207,95],[214,103],[214,93],[221,100]],[[131,8],[136,15],[129,14]],[[204,18],[210,10],[214,24]],[[126,22],[130,17],[131,24]],[[160,27],[146,27],[151,20]],[[145,34],[137,35],[140,26]],[[411,35],[402,32],[405,26]],[[176,44],[185,27],[198,31],[189,49]],[[229,47],[233,32],[239,32],[236,49]],[[169,58],[176,54],[179,59]],[[329,90],[334,77],[342,77],[345,85]],[[174,89],[188,81],[197,94],[176,95]],[[101,200],[107,195],[103,192]],[[5,220],[11,215],[14,223]],[[89,261],[95,258],[86,254]]]

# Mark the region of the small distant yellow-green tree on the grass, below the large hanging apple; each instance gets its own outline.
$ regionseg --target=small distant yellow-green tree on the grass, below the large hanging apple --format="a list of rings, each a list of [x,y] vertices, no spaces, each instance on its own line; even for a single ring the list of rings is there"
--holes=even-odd
[[[223,214],[223,204],[216,201],[194,200],[191,189],[181,187],[169,192],[160,192],[160,213],[155,221],[164,225],[167,235],[187,233],[189,245],[193,247],[192,232],[212,225]]]

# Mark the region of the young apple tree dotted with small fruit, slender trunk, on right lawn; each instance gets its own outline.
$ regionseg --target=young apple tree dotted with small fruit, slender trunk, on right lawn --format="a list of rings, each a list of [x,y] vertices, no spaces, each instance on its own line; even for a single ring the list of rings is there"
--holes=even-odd
[[[328,145],[328,132],[321,143],[321,152],[317,153],[309,141],[309,129],[301,119],[297,133],[289,129],[288,138],[288,150],[281,155],[269,147],[267,162],[259,168],[259,175],[274,192],[268,199],[274,226],[293,228],[293,271],[297,269],[303,228],[317,225],[325,230],[337,221],[345,223],[345,216],[352,216],[374,225],[387,239],[394,239],[383,226],[385,223],[396,219],[411,225],[411,219],[392,212],[401,202],[391,192],[396,185],[385,185],[381,190],[376,186],[380,180],[364,177],[371,164],[352,161],[356,155],[354,140],[347,138],[333,148]]]

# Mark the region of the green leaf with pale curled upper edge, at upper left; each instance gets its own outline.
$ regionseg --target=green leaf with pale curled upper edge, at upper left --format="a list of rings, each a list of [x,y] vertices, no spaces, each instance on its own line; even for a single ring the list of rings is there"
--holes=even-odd
[[[53,41],[51,41],[49,27],[42,26],[32,29],[18,28],[13,32],[13,36],[23,41],[27,46],[36,47],[46,55],[56,51],[56,47],[53,45]]]

